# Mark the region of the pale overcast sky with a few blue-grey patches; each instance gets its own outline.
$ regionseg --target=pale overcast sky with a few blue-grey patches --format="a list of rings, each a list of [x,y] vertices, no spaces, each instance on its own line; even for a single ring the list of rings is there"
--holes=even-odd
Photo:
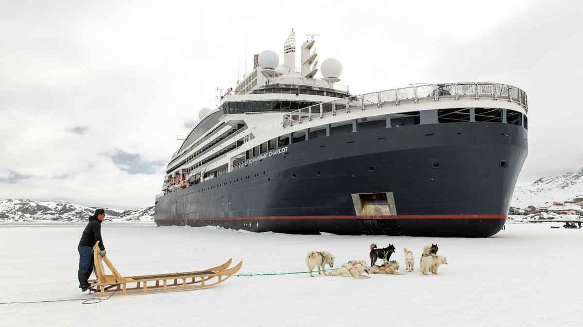
[[[5,1],[0,5],[0,198],[153,205],[164,169],[217,88],[252,56],[283,61],[320,34],[353,94],[495,81],[529,99],[518,184],[583,166],[578,1]],[[245,68],[247,70],[245,70]],[[580,89],[581,88],[581,89]]]

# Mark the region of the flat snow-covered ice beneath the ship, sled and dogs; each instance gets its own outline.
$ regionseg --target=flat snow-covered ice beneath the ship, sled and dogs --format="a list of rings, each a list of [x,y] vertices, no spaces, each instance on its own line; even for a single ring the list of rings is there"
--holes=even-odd
[[[0,302],[82,298],[76,271],[84,225],[0,224]],[[2,326],[580,326],[583,229],[508,224],[487,239],[288,235],[217,228],[107,224],[108,257],[122,275],[188,271],[243,260],[241,273],[305,271],[310,250],[336,264],[368,260],[392,243],[405,276],[233,277],[189,292],[0,305]],[[406,272],[403,247],[418,256],[438,243],[440,275]]]

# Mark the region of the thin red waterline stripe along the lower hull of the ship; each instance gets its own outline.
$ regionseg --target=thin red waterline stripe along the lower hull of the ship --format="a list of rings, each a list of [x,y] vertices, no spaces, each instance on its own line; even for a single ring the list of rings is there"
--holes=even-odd
[[[310,219],[357,219],[357,220],[395,220],[395,219],[506,219],[506,215],[393,215],[393,216],[256,216],[222,218],[156,219],[157,221],[257,221],[257,220],[310,220]]]

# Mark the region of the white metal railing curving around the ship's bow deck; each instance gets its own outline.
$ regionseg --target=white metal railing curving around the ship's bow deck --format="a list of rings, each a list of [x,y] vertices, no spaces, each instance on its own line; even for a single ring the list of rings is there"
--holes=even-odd
[[[301,123],[314,118],[324,118],[330,115],[335,116],[353,110],[380,108],[386,105],[468,98],[490,98],[516,102],[528,112],[528,98],[526,97],[526,93],[518,87],[498,83],[463,82],[423,84],[353,95],[286,113],[283,115],[282,124],[283,127],[292,126],[294,123]]]

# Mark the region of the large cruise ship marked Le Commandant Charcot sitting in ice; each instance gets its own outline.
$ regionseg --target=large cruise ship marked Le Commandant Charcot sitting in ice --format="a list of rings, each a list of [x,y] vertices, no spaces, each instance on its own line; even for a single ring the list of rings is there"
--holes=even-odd
[[[352,94],[292,30],[279,55],[221,91],[171,155],[158,226],[251,232],[489,237],[528,154],[526,93],[504,83]],[[319,73],[319,74],[318,74]]]

